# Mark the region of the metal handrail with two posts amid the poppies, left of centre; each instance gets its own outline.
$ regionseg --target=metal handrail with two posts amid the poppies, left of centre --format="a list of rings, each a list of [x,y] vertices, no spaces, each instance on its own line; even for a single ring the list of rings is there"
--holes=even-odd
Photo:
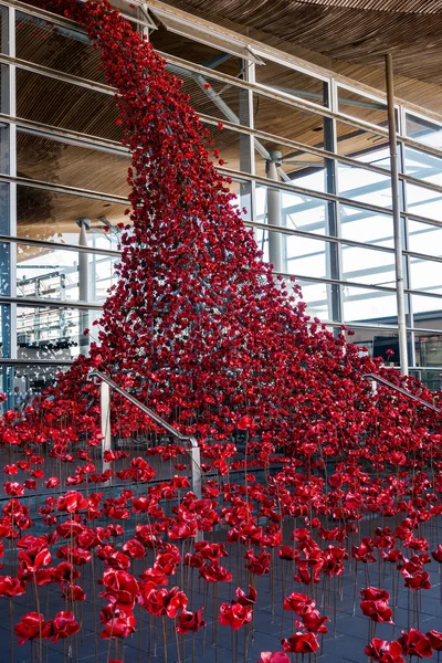
[[[126,389],[119,387],[112,378],[106,376],[101,370],[92,370],[90,378],[98,378],[102,382],[101,392],[101,406],[102,406],[102,434],[103,434],[103,452],[110,449],[110,402],[109,402],[109,387],[123,396],[126,400],[133,403],[136,408],[141,410],[150,419],[152,419],[158,425],[164,428],[168,433],[178,438],[181,442],[190,443],[190,457],[191,457],[191,472],[192,472],[192,491],[197,497],[201,498],[201,455],[198,441],[193,435],[183,435],[176,428],[165,421],[159,414],[150,410],[147,406],[141,403],[135,396],[131,396]],[[106,389],[104,389],[106,386]]]

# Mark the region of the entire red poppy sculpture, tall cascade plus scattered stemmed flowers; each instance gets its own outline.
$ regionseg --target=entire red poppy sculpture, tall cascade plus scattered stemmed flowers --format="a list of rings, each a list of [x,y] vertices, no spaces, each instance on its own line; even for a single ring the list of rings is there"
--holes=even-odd
[[[151,628],[161,624],[166,646],[167,628],[183,638],[203,629],[210,604],[214,640],[221,624],[249,642],[260,609],[256,583],[272,585],[276,575],[292,627],[283,651],[265,650],[261,662],[315,657],[334,619],[317,600],[319,588],[330,597],[352,572],[356,590],[362,567],[365,654],[401,663],[442,651],[442,633],[421,632],[418,619],[420,597],[432,587],[427,567],[442,564],[442,545],[434,548],[427,529],[442,511],[442,425],[434,411],[400,392],[380,386],[373,394],[361,373],[429,403],[433,394],[347,344],[345,327],[335,336],[312,320],[299,287],[274,278],[241,221],[230,180],[210,160],[209,131],[181,82],[107,0],[42,4],[86,29],[117,90],[117,122],[133,154],[131,223],[120,228],[119,278],[91,356],[23,413],[10,410],[0,421],[0,443],[14,459],[3,467],[9,499],[0,512],[0,558],[3,539],[11,556],[0,597],[13,604],[27,593],[34,601],[15,623],[18,643],[77,636],[91,591],[86,569],[101,588],[97,628],[116,655],[143,613]],[[186,449],[160,438],[117,394],[114,435],[148,431],[152,442],[134,456],[107,450],[97,469],[99,396],[86,379],[91,368],[197,436],[201,498],[189,490]],[[158,478],[156,462],[169,478]],[[56,467],[54,475],[48,467]],[[38,513],[23,499],[31,495],[40,499]],[[31,534],[36,518],[44,535]],[[221,533],[225,543],[217,540]],[[391,591],[371,586],[370,569],[378,569],[378,583],[393,579]],[[412,625],[396,640],[376,638],[378,624],[394,622],[399,581],[414,607]],[[211,594],[197,610],[194,582]],[[231,582],[235,598],[218,601],[218,588]],[[64,609],[46,620],[40,592],[51,585]]]

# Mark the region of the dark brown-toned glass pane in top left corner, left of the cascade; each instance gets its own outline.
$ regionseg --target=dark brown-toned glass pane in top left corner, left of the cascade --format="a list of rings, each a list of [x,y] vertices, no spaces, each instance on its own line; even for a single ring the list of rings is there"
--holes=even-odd
[[[17,11],[15,17],[17,57],[105,83],[99,51],[84,32],[22,11]]]

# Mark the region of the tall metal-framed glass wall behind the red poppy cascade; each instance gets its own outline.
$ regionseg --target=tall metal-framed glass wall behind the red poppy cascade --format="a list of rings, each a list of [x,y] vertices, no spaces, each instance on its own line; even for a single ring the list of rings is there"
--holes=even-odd
[[[141,29],[209,128],[263,260],[296,276],[309,315],[372,355],[391,346],[398,366],[385,96],[172,14]],[[87,352],[82,332],[116,278],[130,156],[86,34],[4,0],[0,19],[0,390],[13,401]],[[398,107],[397,124],[409,360],[439,387],[442,123]]]

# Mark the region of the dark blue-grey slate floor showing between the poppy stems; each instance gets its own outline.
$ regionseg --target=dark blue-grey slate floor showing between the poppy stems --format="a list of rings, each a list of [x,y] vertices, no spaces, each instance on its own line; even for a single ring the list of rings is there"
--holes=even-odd
[[[131,455],[137,455],[137,453],[134,454],[134,451],[136,450],[133,450]],[[9,456],[6,454],[2,459],[2,464],[11,463],[13,461],[14,459],[12,455]],[[177,461],[173,462],[183,462],[183,459],[177,459]],[[176,473],[173,463],[161,463],[156,459],[151,459],[151,464],[157,467],[158,475],[161,476],[161,478],[166,478]],[[53,460],[48,460],[44,466],[46,477],[51,474],[63,475],[63,477],[65,477],[67,474],[73,473],[74,469],[75,464],[69,466]],[[101,471],[98,464],[97,471]],[[186,474],[186,471],[180,473]],[[23,476],[9,478],[12,481],[23,481]],[[93,486],[92,490],[104,490],[107,496],[107,494],[112,493],[119,494],[120,487],[129,486],[120,485],[118,488],[115,486],[103,487],[98,485]],[[83,491],[85,490],[85,486],[73,486],[73,488]],[[54,495],[59,494],[57,491],[59,490],[53,492]],[[38,498],[32,496],[25,498],[24,502],[28,503],[31,511],[35,513],[36,506],[42,504],[44,497],[45,494],[39,493]],[[4,504],[4,495],[0,495],[0,507]],[[389,525],[393,528],[398,522],[389,523],[386,520],[385,523],[380,523],[372,519],[366,519],[361,523],[360,536],[372,534],[375,527],[378,525]],[[94,526],[105,526],[106,523],[107,522],[105,520],[95,520]],[[131,523],[130,525],[130,522],[125,522],[127,538],[130,536],[130,526],[134,525],[135,523]],[[290,532],[293,529],[293,526],[294,524],[292,523],[290,529],[286,532],[285,541],[290,540]],[[301,526],[301,523],[298,523],[298,526]],[[36,524],[32,529],[32,534],[39,535],[44,532],[45,527],[41,519],[39,520],[36,518]],[[218,530],[214,534],[213,540],[225,540],[225,534],[227,529]],[[419,535],[427,536],[430,540],[430,551],[434,550],[438,543],[442,543],[442,523],[439,524],[439,527],[432,523],[431,526],[428,527],[428,532],[422,530]],[[212,538],[212,535],[208,535],[208,538]],[[350,548],[350,543],[351,541],[347,543],[347,549]],[[327,545],[325,541],[319,541],[319,544],[322,547]],[[181,546],[181,544],[179,545]],[[335,543],[335,545],[338,544]],[[394,565],[388,565],[388,568],[379,566],[378,564],[368,565],[369,577],[366,577],[366,565],[359,564],[356,569],[355,564],[348,561],[346,562],[346,573],[341,579],[332,581],[330,586],[324,586],[324,582],[322,582],[319,586],[315,586],[313,590],[309,590],[308,588],[294,582],[294,567],[292,562],[281,561],[275,556],[275,562],[272,567],[274,569],[273,579],[269,576],[256,578],[259,600],[253,627],[249,629],[246,638],[248,655],[245,656],[245,630],[242,629],[232,638],[232,632],[229,628],[218,624],[219,604],[223,601],[230,601],[234,597],[234,590],[238,586],[241,586],[246,590],[249,582],[249,578],[246,578],[243,567],[243,554],[245,548],[243,546],[240,547],[239,545],[231,545],[228,549],[230,557],[221,560],[221,564],[233,572],[233,582],[218,583],[218,586],[206,583],[204,581],[198,580],[198,570],[196,569],[192,570],[190,581],[187,571],[181,578],[180,570],[177,576],[170,579],[170,587],[178,585],[188,594],[189,610],[196,611],[200,606],[204,606],[203,618],[207,620],[207,628],[202,629],[194,638],[191,635],[188,635],[185,639],[181,636],[176,638],[173,621],[167,619],[167,657],[165,656],[164,651],[162,621],[150,618],[147,612],[141,612],[139,607],[136,607],[135,610],[137,632],[133,636],[125,639],[124,643],[118,643],[116,652],[114,642],[109,645],[108,641],[101,640],[99,632],[102,627],[99,624],[98,614],[99,609],[105,606],[105,599],[98,598],[98,592],[101,591],[99,587],[97,587],[95,591],[95,600],[93,599],[92,580],[90,571],[87,570],[90,567],[88,565],[87,567],[82,567],[83,580],[81,581],[81,585],[87,592],[87,600],[84,603],[76,604],[76,619],[83,624],[82,632],[75,638],[71,638],[67,641],[61,641],[56,644],[44,642],[42,648],[42,663],[107,663],[109,659],[122,659],[125,663],[162,663],[166,659],[167,663],[256,663],[260,660],[262,651],[281,651],[281,638],[288,638],[297,630],[292,613],[285,612],[283,614],[282,611],[284,597],[293,591],[301,591],[304,593],[313,591],[319,611],[330,618],[330,622],[327,624],[328,633],[324,636],[319,636],[322,646],[317,655],[305,655],[304,657],[302,655],[298,655],[297,657],[293,655],[293,662],[307,663],[309,661],[324,661],[325,663],[361,663],[367,661],[364,648],[369,641],[370,620],[361,614],[359,608],[359,591],[362,587],[369,585],[389,590],[392,594],[391,604],[397,603],[393,614],[396,625],[377,625],[377,638],[390,641],[400,636],[402,629],[409,629],[410,627],[419,628],[424,633],[429,630],[442,631],[442,603],[440,600],[440,597],[442,596],[441,576],[435,561],[432,561],[427,567],[427,570],[431,573],[433,587],[431,591],[420,592],[418,621],[418,617],[414,614],[415,611],[413,610],[412,592],[404,589],[403,578],[399,576]],[[59,560],[53,559],[53,564],[56,564],[57,561]],[[0,573],[14,575],[17,568],[14,569],[8,566],[8,555],[6,556],[6,562],[7,566]],[[144,566],[141,566],[141,564]],[[152,559],[149,557],[148,559],[143,560],[143,562],[139,562],[134,572],[140,572],[143,568],[151,566],[151,564]],[[102,568],[96,569],[96,577],[99,577],[102,571]],[[392,592],[393,579],[391,572],[394,573],[394,586],[398,586],[399,581],[397,601],[396,597],[393,598],[394,592]],[[336,604],[334,597],[336,597]],[[411,600],[410,606],[409,600]],[[54,585],[40,588],[40,603],[41,611],[46,619],[54,617],[57,611],[64,609],[61,589]],[[212,612],[213,608],[214,610]],[[18,646],[15,636],[11,639],[11,623],[17,623],[21,615],[30,610],[35,610],[32,587],[28,588],[27,596],[13,600],[12,619],[10,601],[0,598],[0,663],[9,663],[12,661],[13,663],[38,662],[38,643],[34,643],[33,645],[27,643]],[[94,634],[94,613],[96,631],[98,633],[97,638]],[[11,642],[13,642],[12,656]],[[215,644],[213,644],[213,642],[215,642]],[[435,654],[432,660],[438,661],[438,655]]]

